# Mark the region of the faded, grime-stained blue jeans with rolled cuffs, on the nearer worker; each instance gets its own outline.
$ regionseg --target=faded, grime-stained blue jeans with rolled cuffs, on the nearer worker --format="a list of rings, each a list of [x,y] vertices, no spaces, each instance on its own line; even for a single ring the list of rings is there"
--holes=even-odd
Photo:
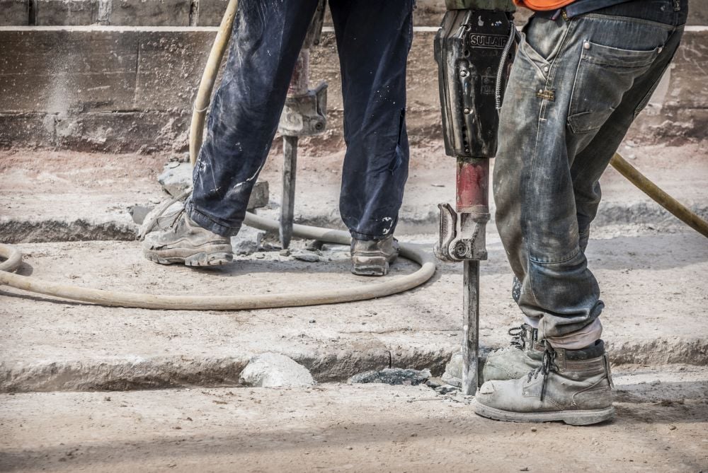
[[[501,110],[496,225],[539,339],[581,348],[604,308],[585,250],[600,176],[679,45],[686,0],[635,0],[524,29]]]

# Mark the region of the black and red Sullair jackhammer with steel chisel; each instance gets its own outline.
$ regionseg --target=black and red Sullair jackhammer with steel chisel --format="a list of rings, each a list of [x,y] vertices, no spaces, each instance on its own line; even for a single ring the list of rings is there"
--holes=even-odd
[[[446,0],[435,36],[445,153],[457,160],[456,204],[439,204],[435,256],[463,262],[462,392],[474,395],[479,370],[479,262],[487,258],[489,160],[498,109],[513,59],[511,0]]]

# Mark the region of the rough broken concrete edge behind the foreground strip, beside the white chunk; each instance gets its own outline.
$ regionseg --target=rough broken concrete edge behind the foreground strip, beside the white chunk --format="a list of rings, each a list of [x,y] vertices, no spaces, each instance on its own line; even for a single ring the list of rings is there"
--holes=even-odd
[[[609,340],[613,366],[708,363],[708,340],[679,337]],[[439,376],[458,346],[285,354],[309,370],[317,383],[345,382],[353,375],[385,368],[430,370]],[[223,357],[155,356],[76,361],[0,363],[0,392],[144,390],[177,387],[239,387],[254,354]]]

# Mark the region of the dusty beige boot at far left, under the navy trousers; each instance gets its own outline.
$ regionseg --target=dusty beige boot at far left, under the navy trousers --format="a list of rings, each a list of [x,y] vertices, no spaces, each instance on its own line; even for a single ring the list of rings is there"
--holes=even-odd
[[[185,211],[175,219],[171,228],[155,233],[145,238],[143,254],[159,264],[218,266],[234,259],[230,238],[198,226]]]

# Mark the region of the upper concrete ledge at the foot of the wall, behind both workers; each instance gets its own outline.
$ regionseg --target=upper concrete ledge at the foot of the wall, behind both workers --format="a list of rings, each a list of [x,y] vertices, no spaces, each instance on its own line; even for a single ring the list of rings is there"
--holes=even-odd
[[[338,138],[301,140],[295,218],[343,228],[338,210],[344,144]],[[277,217],[282,188],[282,148],[276,141],[261,180],[270,183],[270,209]],[[708,141],[683,146],[641,145],[627,140],[619,151],[663,189],[708,217]],[[165,198],[156,183],[166,157],[67,151],[0,151],[0,242],[132,240],[137,227],[127,210],[155,206]],[[399,216],[398,235],[435,233],[439,202],[455,199],[455,166],[442,141],[411,147],[411,172]],[[683,224],[610,168],[603,176],[603,202],[595,233],[628,235],[681,230]],[[86,203],[91,202],[90,206]],[[492,203],[493,205],[493,203]],[[614,231],[617,230],[617,231]]]

